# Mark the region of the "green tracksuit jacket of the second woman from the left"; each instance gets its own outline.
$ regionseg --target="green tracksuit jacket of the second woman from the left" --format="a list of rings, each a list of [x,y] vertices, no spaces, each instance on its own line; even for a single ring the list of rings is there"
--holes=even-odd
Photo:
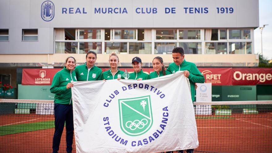
[[[87,62],[83,65],[76,66],[74,71],[78,81],[102,80],[102,70],[94,65],[88,72]]]

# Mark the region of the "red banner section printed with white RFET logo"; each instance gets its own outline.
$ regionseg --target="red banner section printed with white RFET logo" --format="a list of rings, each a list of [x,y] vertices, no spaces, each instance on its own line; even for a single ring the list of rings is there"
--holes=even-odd
[[[205,83],[213,86],[232,85],[232,68],[198,68],[204,75]]]

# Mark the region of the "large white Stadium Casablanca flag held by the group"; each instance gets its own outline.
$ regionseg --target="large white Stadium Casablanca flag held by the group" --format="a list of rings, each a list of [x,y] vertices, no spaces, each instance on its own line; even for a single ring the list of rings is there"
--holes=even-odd
[[[72,98],[79,153],[198,147],[189,80],[183,71],[142,81],[74,82]]]

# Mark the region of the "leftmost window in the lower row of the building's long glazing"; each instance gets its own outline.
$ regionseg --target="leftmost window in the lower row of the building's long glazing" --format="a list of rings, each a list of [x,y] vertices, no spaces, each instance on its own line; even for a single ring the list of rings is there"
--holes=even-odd
[[[78,42],[56,42],[56,53],[78,53]]]

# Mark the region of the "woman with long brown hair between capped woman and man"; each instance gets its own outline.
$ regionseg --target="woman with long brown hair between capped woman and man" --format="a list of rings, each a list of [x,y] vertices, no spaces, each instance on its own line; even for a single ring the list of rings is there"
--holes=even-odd
[[[164,61],[162,57],[155,57],[152,61],[154,72],[149,74],[150,78],[158,78],[160,76],[171,74],[169,71],[165,71]]]

